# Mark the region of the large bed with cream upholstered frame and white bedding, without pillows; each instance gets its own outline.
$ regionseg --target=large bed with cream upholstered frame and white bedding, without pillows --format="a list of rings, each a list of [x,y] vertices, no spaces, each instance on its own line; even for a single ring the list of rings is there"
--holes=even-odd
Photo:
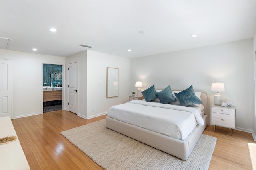
[[[109,109],[106,127],[187,160],[209,122],[208,94],[201,91],[200,98],[202,106],[193,108],[138,100],[116,105]]]

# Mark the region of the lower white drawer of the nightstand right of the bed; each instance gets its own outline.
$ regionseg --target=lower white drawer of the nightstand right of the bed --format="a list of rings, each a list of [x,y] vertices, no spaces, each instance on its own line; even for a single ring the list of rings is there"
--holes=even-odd
[[[212,124],[229,128],[236,128],[236,116],[212,112]]]

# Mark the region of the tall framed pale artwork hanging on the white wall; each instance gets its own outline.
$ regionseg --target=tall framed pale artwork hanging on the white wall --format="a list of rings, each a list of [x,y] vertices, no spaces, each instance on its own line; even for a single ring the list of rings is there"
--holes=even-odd
[[[107,67],[107,98],[118,96],[118,68]]]

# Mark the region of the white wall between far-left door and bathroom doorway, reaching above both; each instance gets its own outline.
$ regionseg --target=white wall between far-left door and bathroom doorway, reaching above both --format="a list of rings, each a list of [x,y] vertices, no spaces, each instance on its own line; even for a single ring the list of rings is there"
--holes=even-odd
[[[12,118],[42,113],[42,63],[64,64],[64,57],[0,49],[12,60]]]

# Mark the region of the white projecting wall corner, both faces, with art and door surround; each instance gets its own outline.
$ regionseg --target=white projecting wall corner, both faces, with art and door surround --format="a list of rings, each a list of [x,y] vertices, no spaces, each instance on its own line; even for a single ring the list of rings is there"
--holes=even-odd
[[[79,116],[90,119],[104,115],[109,107],[129,100],[130,59],[87,50],[67,57],[66,61],[78,61]],[[119,69],[118,97],[106,98],[107,67]]]

